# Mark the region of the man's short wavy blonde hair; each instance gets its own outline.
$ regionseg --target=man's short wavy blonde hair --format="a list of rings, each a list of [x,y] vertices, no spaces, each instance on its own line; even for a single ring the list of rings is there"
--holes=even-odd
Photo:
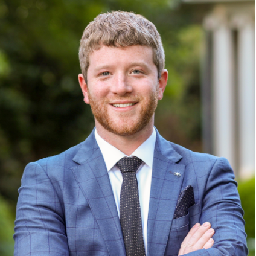
[[[164,48],[155,25],[142,15],[124,11],[102,13],[90,22],[80,40],[80,67],[87,80],[89,54],[106,46],[145,45],[153,50],[153,62],[158,69],[158,78],[164,69]]]

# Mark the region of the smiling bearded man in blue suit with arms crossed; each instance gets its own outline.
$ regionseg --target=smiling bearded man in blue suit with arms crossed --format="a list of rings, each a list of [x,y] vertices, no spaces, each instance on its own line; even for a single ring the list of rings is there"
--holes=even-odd
[[[247,255],[228,162],[153,127],[168,78],[155,26],[134,13],[100,14],[79,57],[96,129],[25,168],[14,254]]]

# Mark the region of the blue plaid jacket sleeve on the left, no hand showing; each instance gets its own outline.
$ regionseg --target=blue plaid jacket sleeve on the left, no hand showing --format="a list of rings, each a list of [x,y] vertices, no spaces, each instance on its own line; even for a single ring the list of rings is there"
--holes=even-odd
[[[18,191],[14,256],[68,256],[63,204],[41,165],[27,165]]]

